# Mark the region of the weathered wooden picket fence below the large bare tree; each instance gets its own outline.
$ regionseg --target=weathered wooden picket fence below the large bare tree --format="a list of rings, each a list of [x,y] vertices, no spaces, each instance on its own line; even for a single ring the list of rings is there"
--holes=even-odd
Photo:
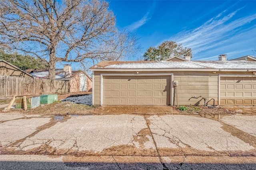
[[[0,76],[0,97],[69,92],[68,80]]]

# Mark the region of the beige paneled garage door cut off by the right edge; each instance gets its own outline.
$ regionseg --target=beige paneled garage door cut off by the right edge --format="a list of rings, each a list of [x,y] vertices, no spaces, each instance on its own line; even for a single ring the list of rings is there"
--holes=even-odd
[[[220,105],[256,104],[256,77],[220,77]]]

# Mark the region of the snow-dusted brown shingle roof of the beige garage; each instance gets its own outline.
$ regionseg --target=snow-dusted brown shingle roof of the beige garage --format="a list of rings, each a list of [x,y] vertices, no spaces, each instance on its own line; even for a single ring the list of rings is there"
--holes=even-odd
[[[256,70],[254,61],[102,61],[90,70],[102,69],[228,69]]]

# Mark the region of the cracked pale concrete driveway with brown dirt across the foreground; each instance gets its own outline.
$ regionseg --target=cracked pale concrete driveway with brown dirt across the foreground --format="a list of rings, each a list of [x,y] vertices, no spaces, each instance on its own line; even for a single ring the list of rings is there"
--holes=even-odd
[[[122,163],[150,162],[154,169],[175,169],[186,167],[188,160],[189,166],[218,161],[225,164],[222,158],[228,156],[237,168],[256,169],[255,125],[256,116],[252,115],[61,117],[0,113],[0,161],[7,165],[15,162],[17,155],[26,159],[31,154],[62,156],[62,161],[65,156],[66,160],[72,156],[97,160],[99,156],[101,162],[112,162],[119,168]],[[218,156],[222,158],[216,160]],[[232,161],[229,164],[233,166]]]

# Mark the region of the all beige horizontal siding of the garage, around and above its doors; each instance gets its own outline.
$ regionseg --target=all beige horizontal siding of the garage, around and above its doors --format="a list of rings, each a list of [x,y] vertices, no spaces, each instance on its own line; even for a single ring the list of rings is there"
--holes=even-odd
[[[106,73],[135,73],[135,72],[99,72],[94,71],[94,105],[100,105],[100,74]],[[218,105],[218,75],[219,74],[251,74],[251,72],[139,72],[142,73],[173,73],[174,81],[178,81],[178,104],[179,105]],[[200,98],[197,98],[201,96]],[[196,97],[196,98],[194,98]],[[174,87],[172,94],[173,104],[177,105],[177,93]]]

